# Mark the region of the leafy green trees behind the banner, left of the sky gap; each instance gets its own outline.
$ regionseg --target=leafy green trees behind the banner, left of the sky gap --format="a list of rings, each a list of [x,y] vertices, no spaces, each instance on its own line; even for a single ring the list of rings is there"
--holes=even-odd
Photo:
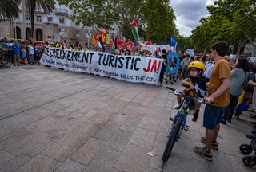
[[[67,16],[77,23],[81,22],[84,26],[93,24],[98,27],[111,28],[118,25],[122,36],[127,41],[132,40],[129,23],[132,22],[134,15],[137,16],[138,36],[143,41],[151,40],[154,43],[162,41],[170,42],[169,35],[175,37],[178,30],[174,24],[174,11],[170,6],[169,0],[58,0],[73,11]]]

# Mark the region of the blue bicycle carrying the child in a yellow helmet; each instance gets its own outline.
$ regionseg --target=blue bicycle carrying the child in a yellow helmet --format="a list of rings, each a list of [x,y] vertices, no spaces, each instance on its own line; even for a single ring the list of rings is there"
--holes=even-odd
[[[185,85],[183,85],[185,86]],[[187,87],[187,86],[186,86]],[[182,108],[177,112],[177,114],[174,116],[174,119],[170,118],[170,120],[173,121],[170,131],[167,135],[168,142],[166,143],[165,151],[162,155],[162,161],[166,162],[168,158],[170,157],[170,152],[172,151],[174,147],[174,143],[178,142],[178,139],[182,135],[182,131],[190,131],[190,127],[186,125],[186,116],[187,116],[187,110],[194,105],[194,100],[197,100],[198,103],[202,104],[204,102],[204,99],[201,97],[194,97],[194,91],[188,90],[188,94],[185,95],[183,92],[178,91],[174,88],[166,87],[167,89],[170,89],[174,95],[180,95],[183,97],[182,99]]]

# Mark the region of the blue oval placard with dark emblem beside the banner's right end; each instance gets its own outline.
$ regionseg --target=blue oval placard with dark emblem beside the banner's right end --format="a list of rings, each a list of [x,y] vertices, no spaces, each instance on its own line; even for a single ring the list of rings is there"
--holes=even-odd
[[[169,53],[167,57],[168,73],[166,74],[165,78],[166,84],[168,83],[168,80],[170,80],[170,84],[173,84],[173,81],[177,81],[179,64],[180,59],[178,57],[178,54],[176,52]]]

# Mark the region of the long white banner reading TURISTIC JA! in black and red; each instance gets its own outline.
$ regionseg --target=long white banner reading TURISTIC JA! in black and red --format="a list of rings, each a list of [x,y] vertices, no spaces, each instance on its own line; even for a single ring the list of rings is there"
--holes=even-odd
[[[134,83],[158,85],[162,59],[138,56],[116,56],[94,51],[70,51],[45,47],[40,62],[72,72],[110,76]]]

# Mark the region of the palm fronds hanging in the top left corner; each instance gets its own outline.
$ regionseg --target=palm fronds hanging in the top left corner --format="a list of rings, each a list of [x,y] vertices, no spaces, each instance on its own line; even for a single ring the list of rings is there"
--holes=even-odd
[[[1,0],[0,3],[0,20],[5,17],[8,20],[18,18],[18,2],[20,0]]]

